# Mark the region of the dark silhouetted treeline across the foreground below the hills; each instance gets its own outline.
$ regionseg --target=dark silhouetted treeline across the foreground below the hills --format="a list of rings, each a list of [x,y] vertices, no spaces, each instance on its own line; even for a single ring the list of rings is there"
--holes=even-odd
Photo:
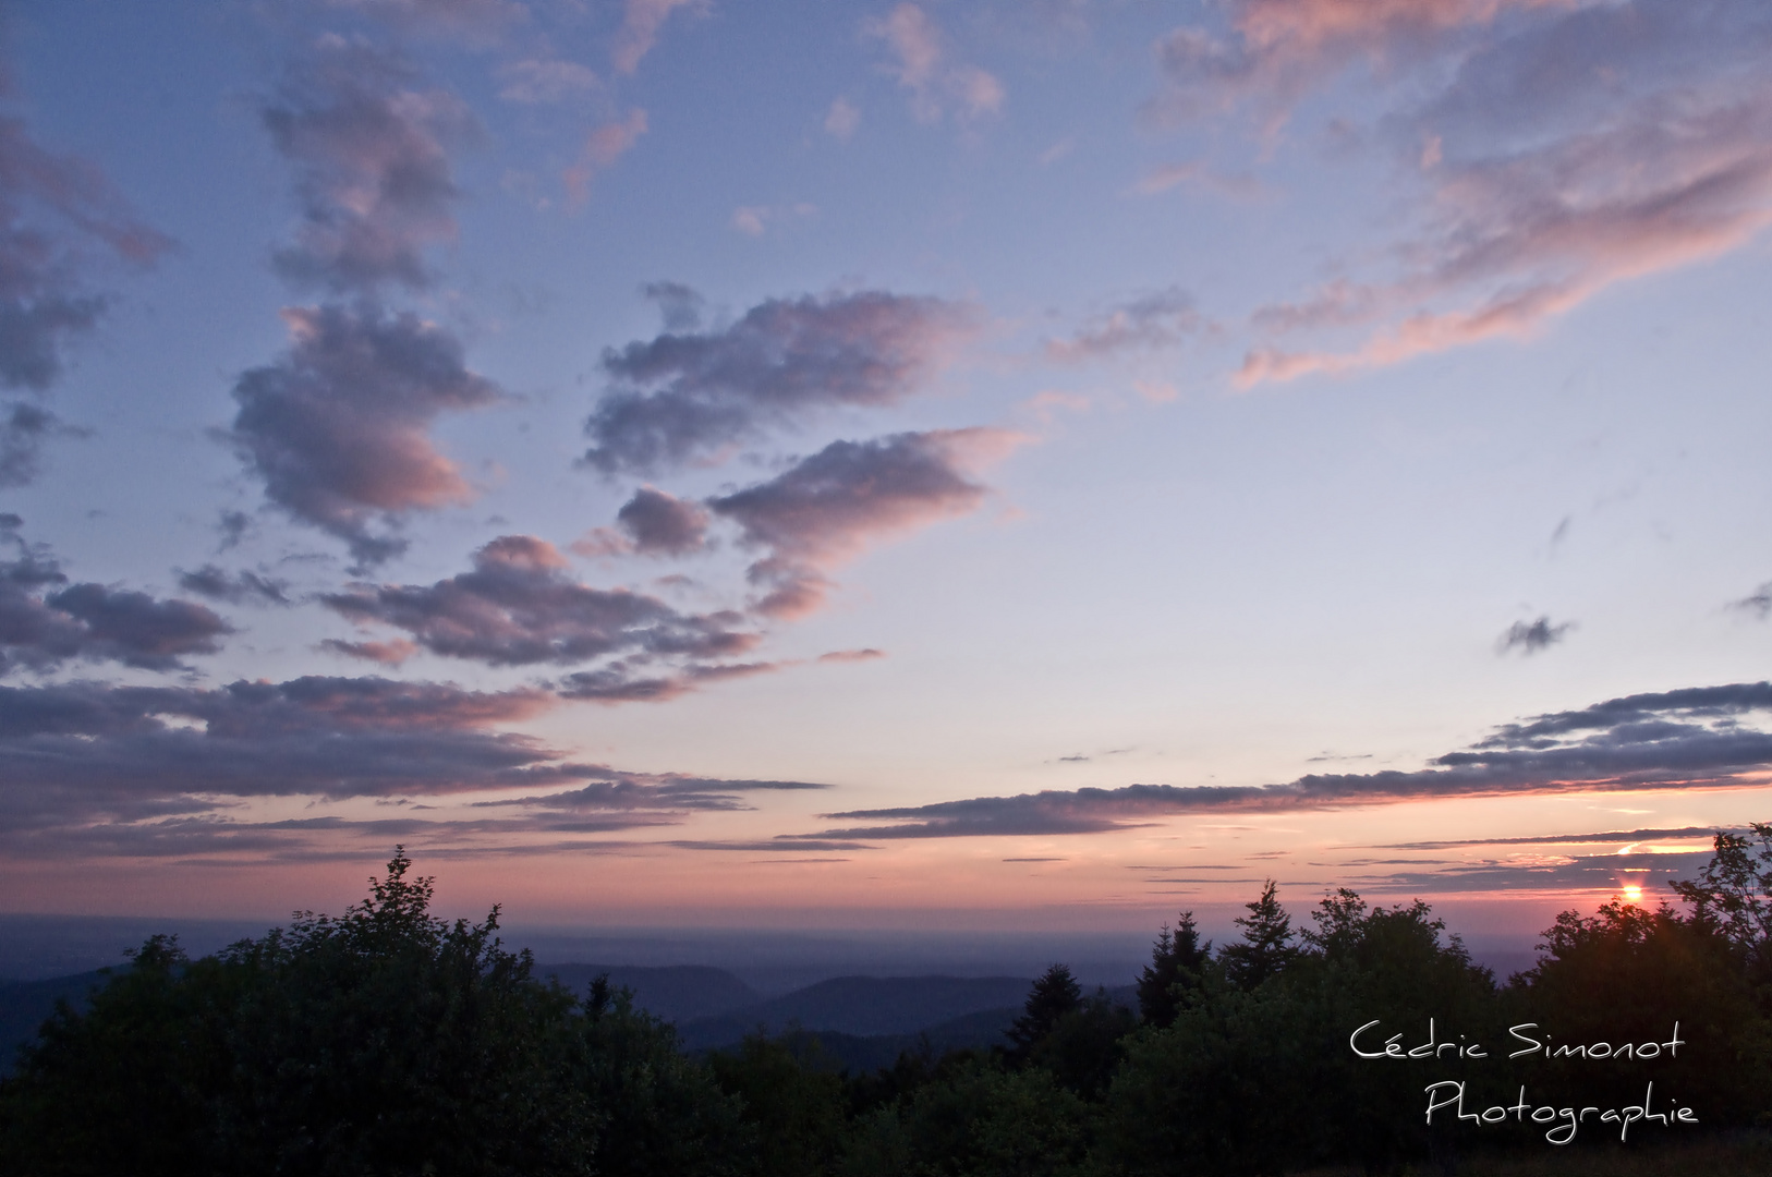
[[[195,961],[154,938],[83,1012],[60,1009],[0,1083],[0,1172],[1451,1172],[1494,1149],[1556,1152],[1561,1108],[1577,1110],[1574,1149],[1618,1149],[1602,1113],[1644,1104],[1646,1083],[1671,1122],[1639,1120],[1628,1147],[1763,1127],[1772,824],[1719,833],[1673,886],[1678,908],[1558,916],[1538,964],[1497,984],[1423,902],[1341,890],[1294,922],[1269,883],[1230,943],[1203,943],[1185,913],[1162,929],[1138,1010],[1053,966],[999,1048],[847,1074],[812,1033],[689,1056],[626,991],[537,980],[500,945],[496,909],[432,916],[431,881],[397,853],[342,916]],[[1373,1021],[1357,1046],[1403,1056],[1354,1051]],[[1506,1058],[1531,1041],[1591,1056]],[[1598,1056],[1621,1044],[1659,1056]],[[1428,1126],[1425,1088],[1444,1083],[1449,1104],[1460,1081],[1467,1115],[1526,1106],[1494,1124],[1446,1106]],[[1552,1119],[1535,1124],[1540,1106]]]

